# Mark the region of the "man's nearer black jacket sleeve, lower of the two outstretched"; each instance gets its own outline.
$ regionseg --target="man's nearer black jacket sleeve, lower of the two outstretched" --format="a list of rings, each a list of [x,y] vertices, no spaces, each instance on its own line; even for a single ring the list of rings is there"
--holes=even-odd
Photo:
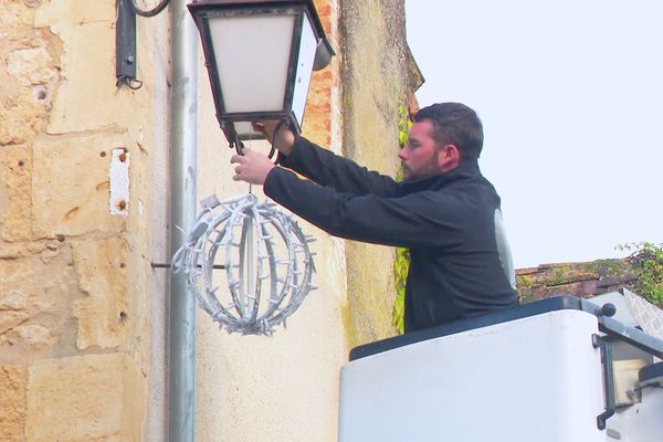
[[[302,180],[283,168],[270,171],[264,190],[281,206],[335,236],[403,248],[460,245],[473,206],[466,196],[440,191],[397,198],[344,193]]]

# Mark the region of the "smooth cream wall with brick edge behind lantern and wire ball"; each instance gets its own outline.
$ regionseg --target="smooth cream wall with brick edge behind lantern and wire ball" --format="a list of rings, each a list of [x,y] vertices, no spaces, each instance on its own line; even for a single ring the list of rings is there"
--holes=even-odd
[[[338,49],[338,4],[316,1],[327,36]],[[202,49],[199,48],[202,59]],[[234,182],[229,149],[215,119],[207,71],[199,66],[200,199],[249,192]],[[304,135],[325,145],[340,145],[340,56],[314,73],[304,117]],[[267,152],[261,141],[246,143]],[[252,191],[262,201],[262,189]],[[272,337],[228,335],[197,311],[196,440],[335,441],[338,375],[347,360],[343,312],[347,303],[344,242],[297,220],[316,241],[317,273],[303,305]]]

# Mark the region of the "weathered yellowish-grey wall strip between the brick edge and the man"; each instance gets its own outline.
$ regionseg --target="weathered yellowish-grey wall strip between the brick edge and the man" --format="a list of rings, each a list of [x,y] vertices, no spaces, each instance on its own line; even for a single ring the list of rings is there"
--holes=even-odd
[[[408,107],[422,81],[411,74],[415,64],[406,42],[404,3],[362,0],[340,4],[344,155],[394,177],[399,107]],[[396,335],[393,249],[347,241],[346,256],[349,346]]]

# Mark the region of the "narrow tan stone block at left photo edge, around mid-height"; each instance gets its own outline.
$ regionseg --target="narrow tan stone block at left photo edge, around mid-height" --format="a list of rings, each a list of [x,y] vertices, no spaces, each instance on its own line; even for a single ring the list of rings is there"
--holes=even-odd
[[[0,240],[31,239],[31,179],[32,150],[27,145],[0,148]]]

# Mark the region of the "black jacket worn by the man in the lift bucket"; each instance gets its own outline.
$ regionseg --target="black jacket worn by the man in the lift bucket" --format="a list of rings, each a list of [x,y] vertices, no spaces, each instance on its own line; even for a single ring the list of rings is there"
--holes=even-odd
[[[274,201],[335,236],[410,249],[406,332],[517,303],[499,197],[476,161],[401,183],[297,137],[281,164],[312,181],[272,169]]]

